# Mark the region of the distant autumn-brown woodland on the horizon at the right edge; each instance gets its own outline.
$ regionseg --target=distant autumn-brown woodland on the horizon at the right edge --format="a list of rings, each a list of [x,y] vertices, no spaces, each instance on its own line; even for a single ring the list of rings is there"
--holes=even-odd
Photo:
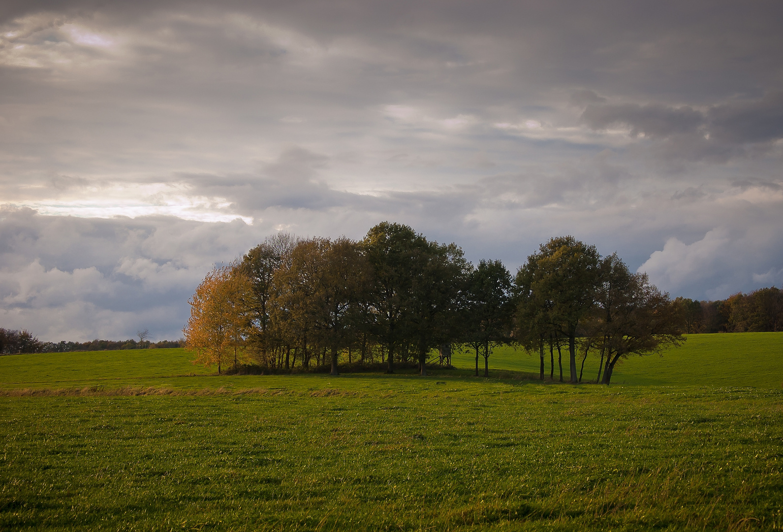
[[[719,301],[674,302],[688,333],[783,331],[783,291],[774,286]]]

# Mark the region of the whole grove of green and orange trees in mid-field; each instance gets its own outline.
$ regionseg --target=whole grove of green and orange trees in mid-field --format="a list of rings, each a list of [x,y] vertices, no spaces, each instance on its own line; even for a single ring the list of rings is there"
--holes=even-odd
[[[677,346],[677,307],[617,255],[602,258],[573,237],[553,238],[515,277],[500,261],[468,262],[455,244],[428,241],[409,226],[380,223],[362,241],[297,239],[281,233],[241,260],[216,267],[189,301],[186,347],[197,363],[293,369],[373,364],[388,372],[431,353],[449,364],[471,349],[485,375],[493,348],[516,343],[539,353],[601,356],[601,382],[620,360]]]

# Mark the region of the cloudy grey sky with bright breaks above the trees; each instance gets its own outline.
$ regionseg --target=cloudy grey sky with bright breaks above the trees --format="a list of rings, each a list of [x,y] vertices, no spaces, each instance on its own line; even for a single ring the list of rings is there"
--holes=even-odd
[[[0,327],[175,339],[215,263],[384,220],[512,273],[783,284],[781,2],[0,6]]]

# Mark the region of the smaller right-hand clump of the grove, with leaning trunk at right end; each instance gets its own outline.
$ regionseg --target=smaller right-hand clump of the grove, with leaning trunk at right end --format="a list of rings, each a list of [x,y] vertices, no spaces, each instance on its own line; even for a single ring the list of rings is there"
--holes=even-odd
[[[542,244],[519,269],[516,287],[517,339],[539,352],[542,380],[547,347],[550,377],[557,350],[563,380],[561,356],[567,348],[569,380],[581,382],[592,350],[601,357],[597,382],[609,384],[620,360],[660,353],[685,339],[677,307],[646,273],[631,273],[616,253],[601,258],[594,246],[573,237]]]

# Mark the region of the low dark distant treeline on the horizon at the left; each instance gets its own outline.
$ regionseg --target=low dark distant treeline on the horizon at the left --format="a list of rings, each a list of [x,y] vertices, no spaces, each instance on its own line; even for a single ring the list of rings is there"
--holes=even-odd
[[[114,351],[117,349],[166,349],[184,347],[184,340],[160,342],[121,340],[92,340],[92,342],[41,342],[30,331],[0,328],[0,354],[14,353],[67,353],[70,351]]]

